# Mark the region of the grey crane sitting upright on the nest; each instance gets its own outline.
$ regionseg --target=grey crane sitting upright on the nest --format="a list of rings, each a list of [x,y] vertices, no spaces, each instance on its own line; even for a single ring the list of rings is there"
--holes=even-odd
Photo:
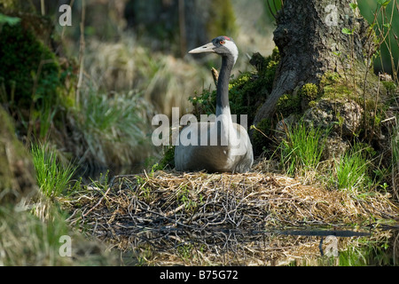
[[[202,52],[214,52],[222,57],[215,121],[191,123],[181,130],[175,147],[176,170],[246,172],[254,162],[252,144],[246,129],[232,122],[229,105],[229,79],[239,49],[230,37],[218,36],[189,53]]]

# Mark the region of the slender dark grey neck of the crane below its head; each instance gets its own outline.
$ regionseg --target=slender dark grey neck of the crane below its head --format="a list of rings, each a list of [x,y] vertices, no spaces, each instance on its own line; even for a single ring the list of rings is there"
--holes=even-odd
[[[216,117],[224,114],[231,120],[230,104],[229,104],[229,80],[231,69],[235,60],[231,56],[222,57],[222,67],[220,69],[219,78],[217,80],[216,90]]]

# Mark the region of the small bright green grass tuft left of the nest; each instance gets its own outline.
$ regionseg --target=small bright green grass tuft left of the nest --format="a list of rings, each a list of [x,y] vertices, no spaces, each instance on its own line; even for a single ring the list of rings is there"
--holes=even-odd
[[[32,156],[41,192],[47,197],[57,197],[65,192],[76,170],[74,165],[62,165],[57,152],[46,145],[33,145]]]

